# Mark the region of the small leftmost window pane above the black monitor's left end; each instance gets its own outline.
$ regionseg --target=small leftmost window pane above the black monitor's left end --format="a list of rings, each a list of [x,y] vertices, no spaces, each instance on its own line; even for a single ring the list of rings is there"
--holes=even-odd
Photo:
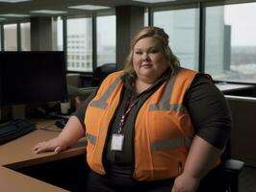
[[[5,51],[17,51],[17,24],[4,25]]]

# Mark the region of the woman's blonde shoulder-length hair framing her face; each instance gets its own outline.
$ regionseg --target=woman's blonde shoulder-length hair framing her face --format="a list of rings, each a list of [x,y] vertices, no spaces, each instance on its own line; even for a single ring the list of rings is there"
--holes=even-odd
[[[162,28],[158,27],[143,27],[133,37],[130,45],[130,53],[124,62],[124,72],[129,73],[132,77],[136,77],[136,73],[133,66],[133,52],[135,44],[144,37],[154,37],[159,41],[163,49],[163,53],[166,57],[166,62],[171,72],[174,72],[174,68],[180,65],[178,58],[172,53],[168,46],[168,35]]]

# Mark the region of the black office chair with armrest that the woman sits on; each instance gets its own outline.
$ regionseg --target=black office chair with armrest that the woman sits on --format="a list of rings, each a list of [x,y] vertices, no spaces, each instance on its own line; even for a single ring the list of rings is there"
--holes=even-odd
[[[228,141],[217,168],[200,182],[196,192],[239,192],[239,175],[244,162],[231,158],[231,144]]]

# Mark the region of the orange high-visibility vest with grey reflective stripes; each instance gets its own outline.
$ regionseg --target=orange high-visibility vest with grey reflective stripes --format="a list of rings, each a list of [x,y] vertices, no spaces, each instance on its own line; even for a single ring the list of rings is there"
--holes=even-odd
[[[165,180],[183,171],[194,136],[183,101],[196,73],[180,68],[141,106],[134,128],[135,180]],[[86,110],[87,161],[100,175],[106,174],[102,155],[120,99],[122,74],[119,71],[106,78]]]

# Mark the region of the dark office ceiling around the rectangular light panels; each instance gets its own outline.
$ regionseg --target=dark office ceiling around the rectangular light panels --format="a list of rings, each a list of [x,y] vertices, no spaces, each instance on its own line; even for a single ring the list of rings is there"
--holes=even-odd
[[[173,1],[173,0],[172,0]],[[189,0],[174,0],[174,2],[188,2]],[[190,0],[189,2],[192,2]],[[172,2],[173,3],[173,2]],[[24,18],[29,18],[32,16],[45,16],[45,15],[77,15],[77,14],[85,14],[91,11],[85,10],[75,10],[70,9],[70,6],[78,6],[78,5],[95,5],[95,6],[107,6],[111,8],[115,8],[117,6],[143,6],[143,7],[151,7],[151,6],[160,6],[167,5],[169,3],[141,3],[132,0],[31,0],[20,3],[4,3],[0,2],[0,22],[8,23],[13,20],[24,20]],[[65,13],[58,14],[42,14],[42,13],[32,13],[31,11],[38,10],[53,10],[53,11],[63,11]],[[26,14],[27,17],[10,17],[3,16],[1,14]]]

